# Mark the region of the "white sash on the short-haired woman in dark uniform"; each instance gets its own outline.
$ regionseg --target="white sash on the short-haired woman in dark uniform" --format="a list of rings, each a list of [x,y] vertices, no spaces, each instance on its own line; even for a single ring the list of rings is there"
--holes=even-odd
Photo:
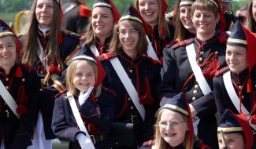
[[[202,93],[204,95],[207,95],[208,93],[211,92],[211,89],[208,83],[206,82],[206,78],[202,75],[201,68],[198,66],[195,60],[196,54],[195,54],[195,47],[193,43],[186,46],[186,51],[187,51],[187,57],[188,57],[189,63],[191,65],[192,71],[195,74],[195,78],[198,82],[198,85],[200,86]]]

